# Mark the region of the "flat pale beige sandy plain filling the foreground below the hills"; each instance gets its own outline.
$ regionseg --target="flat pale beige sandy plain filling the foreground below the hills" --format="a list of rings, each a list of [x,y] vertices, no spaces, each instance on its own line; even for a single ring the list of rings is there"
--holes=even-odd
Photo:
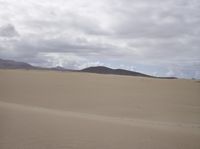
[[[200,149],[200,82],[0,70],[0,149]]]

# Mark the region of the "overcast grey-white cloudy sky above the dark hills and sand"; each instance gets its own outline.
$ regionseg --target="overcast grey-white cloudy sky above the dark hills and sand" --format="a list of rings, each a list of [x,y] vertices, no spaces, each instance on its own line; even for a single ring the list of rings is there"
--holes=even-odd
[[[200,79],[200,1],[0,0],[0,58]]]

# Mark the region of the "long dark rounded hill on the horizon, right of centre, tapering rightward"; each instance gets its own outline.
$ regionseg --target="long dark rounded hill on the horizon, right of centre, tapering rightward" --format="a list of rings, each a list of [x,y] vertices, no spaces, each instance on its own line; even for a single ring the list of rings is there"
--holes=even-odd
[[[114,75],[127,75],[127,76],[140,76],[140,77],[151,77],[160,79],[176,79],[175,77],[156,77],[140,72],[129,71],[124,69],[111,69],[105,66],[88,67],[82,69],[81,72],[98,73],[98,74],[114,74]]]

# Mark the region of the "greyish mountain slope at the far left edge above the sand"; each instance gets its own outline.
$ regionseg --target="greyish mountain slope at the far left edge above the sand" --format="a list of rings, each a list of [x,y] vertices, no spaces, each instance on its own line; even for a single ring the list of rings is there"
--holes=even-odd
[[[0,68],[1,69],[34,69],[35,67],[24,62],[16,62],[13,60],[0,59]]]

